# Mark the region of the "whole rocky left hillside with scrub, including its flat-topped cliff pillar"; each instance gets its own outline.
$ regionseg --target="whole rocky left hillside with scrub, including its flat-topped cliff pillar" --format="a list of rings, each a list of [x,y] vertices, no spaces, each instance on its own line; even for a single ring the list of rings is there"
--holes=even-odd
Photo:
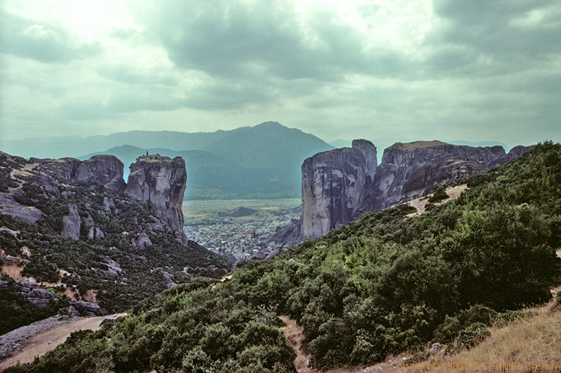
[[[111,155],[0,153],[3,330],[69,300],[121,311],[192,276],[224,274],[227,262],[184,235],[186,179],[182,159],[159,155],[140,157],[126,184]]]

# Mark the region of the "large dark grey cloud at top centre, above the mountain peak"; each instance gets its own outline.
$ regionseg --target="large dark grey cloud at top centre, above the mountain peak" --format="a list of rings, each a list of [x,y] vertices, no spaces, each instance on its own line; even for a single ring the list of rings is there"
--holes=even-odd
[[[284,3],[166,2],[149,32],[177,66],[222,78],[330,81],[347,73],[393,74],[403,65],[393,50],[367,50],[365,38],[336,14],[301,22]]]

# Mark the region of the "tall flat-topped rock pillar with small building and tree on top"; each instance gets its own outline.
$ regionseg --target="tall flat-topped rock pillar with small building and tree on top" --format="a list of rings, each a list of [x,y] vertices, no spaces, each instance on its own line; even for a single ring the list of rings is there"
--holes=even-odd
[[[152,212],[176,232],[183,232],[183,195],[187,171],[182,157],[145,155],[130,165],[128,199],[147,204]]]

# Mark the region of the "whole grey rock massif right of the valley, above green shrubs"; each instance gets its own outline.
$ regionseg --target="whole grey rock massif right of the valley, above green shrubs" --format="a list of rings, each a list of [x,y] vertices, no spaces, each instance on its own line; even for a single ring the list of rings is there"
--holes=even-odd
[[[482,174],[528,149],[517,146],[506,154],[501,146],[396,143],[384,150],[377,164],[376,147],[370,141],[355,140],[352,148],[318,153],[302,164],[300,239],[321,237],[367,211],[427,195],[435,185]]]

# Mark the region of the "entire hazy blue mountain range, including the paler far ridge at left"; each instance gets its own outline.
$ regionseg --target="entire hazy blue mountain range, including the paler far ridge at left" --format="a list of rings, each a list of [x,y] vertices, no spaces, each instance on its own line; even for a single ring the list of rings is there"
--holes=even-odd
[[[24,157],[115,155],[128,166],[140,155],[183,157],[187,198],[216,195],[299,195],[300,166],[306,157],[333,147],[313,134],[278,122],[217,132],[131,131],[83,139],[0,141],[8,153]]]

